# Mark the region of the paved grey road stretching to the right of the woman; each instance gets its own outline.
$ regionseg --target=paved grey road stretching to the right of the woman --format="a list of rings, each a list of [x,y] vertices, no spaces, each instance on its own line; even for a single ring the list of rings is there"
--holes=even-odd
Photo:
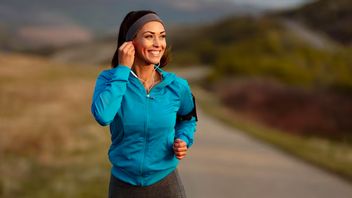
[[[197,109],[198,110],[198,109]],[[352,198],[352,184],[223,125],[199,109],[179,172],[190,198]]]

